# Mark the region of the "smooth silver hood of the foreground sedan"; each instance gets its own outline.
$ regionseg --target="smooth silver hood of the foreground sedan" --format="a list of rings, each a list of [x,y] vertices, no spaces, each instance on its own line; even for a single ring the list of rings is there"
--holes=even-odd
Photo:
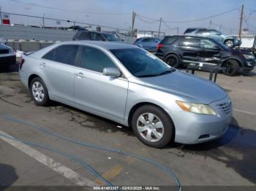
[[[181,96],[185,101],[201,104],[210,104],[227,96],[225,90],[213,82],[178,70],[158,77],[140,78],[140,81],[148,87]]]

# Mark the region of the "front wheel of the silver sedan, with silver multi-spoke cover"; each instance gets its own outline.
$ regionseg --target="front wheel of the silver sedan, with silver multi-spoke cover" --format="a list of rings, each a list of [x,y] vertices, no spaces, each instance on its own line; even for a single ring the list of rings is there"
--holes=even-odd
[[[162,148],[173,138],[170,117],[157,106],[141,106],[132,116],[132,130],[144,144]]]

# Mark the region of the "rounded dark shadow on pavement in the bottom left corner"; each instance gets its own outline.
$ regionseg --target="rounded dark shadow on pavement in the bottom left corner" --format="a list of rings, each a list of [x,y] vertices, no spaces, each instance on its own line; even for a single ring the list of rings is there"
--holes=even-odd
[[[18,175],[12,165],[0,163],[0,190],[10,187],[16,180]]]

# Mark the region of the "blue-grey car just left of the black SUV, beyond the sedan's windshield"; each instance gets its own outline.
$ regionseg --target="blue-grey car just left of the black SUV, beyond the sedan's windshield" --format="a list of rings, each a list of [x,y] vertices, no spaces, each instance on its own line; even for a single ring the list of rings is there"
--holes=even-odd
[[[159,38],[152,38],[152,37],[143,37],[140,39],[136,39],[135,45],[138,47],[142,47],[149,52],[156,52],[157,51],[157,44],[161,42]]]

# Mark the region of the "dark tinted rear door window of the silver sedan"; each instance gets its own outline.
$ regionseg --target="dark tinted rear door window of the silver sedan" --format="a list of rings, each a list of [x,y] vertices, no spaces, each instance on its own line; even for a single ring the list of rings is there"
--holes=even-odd
[[[66,63],[75,66],[76,56],[78,54],[78,45],[61,45],[56,48],[53,60],[59,63]]]

